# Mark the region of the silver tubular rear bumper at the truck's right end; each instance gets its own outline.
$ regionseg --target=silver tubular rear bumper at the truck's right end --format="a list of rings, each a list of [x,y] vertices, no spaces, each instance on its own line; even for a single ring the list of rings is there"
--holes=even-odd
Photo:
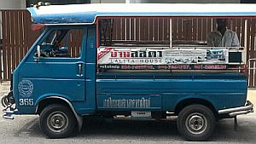
[[[251,101],[247,101],[247,104],[243,107],[234,107],[234,108],[228,108],[219,110],[218,114],[228,114],[230,117],[236,117],[241,114],[247,114],[253,112],[253,103]]]

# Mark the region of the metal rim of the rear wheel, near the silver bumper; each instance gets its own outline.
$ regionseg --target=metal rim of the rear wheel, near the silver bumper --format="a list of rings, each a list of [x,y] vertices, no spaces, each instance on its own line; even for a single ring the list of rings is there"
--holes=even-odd
[[[194,112],[186,118],[186,128],[194,135],[200,135],[207,130],[207,118],[199,113]]]

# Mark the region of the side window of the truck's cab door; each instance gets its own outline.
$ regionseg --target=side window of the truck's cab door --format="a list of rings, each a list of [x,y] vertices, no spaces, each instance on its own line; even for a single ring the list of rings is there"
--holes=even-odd
[[[69,57],[80,56],[83,43],[84,29],[56,29],[40,43],[42,57]]]

